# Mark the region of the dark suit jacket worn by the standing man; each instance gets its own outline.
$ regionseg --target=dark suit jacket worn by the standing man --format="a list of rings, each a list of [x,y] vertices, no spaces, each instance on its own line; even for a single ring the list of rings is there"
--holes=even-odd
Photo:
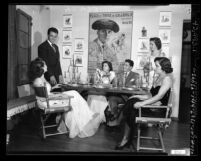
[[[62,75],[61,65],[60,65],[60,54],[58,46],[55,45],[56,52],[50,46],[46,40],[38,46],[38,56],[42,58],[47,64],[47,72],[45,73],[45,78],[49,81],[50,76],[54,75],[57,83],[59,82],[59,75]]]

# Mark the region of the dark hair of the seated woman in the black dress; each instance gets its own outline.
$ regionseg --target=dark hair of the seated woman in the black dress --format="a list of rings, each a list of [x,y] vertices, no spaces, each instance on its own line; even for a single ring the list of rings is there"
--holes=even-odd
[[[173,72],[173,68],[172,68],[172,65],[171,65],[171,62],[168,58],[166,57],[156,57],[154,59],[154,62],[158,61],[160,66],[161,66],[161,69],[163,71],[165,71],[165,73],[172,73]]]

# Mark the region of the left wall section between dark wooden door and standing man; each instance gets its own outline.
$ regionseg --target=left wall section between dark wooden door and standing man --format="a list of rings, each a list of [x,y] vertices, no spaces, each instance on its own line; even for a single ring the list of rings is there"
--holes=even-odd
[[[50,26],[50,10],[39,5],[17,5],[32,17],[31,59],[38,56],[38,45],[47,39],[47,28]]]

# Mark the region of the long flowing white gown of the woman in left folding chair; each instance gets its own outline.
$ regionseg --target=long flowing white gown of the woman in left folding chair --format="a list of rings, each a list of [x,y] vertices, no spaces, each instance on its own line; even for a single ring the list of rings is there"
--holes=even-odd
[[[49,92],[50,89],[51,86],[47,83],[47,90],[49,95],[51,96],[53,94]],[[99,114],[94,113],[89,109],[87,102],[77,91],[71,90],[62,92],[62,94],[74,96],[74,98],[71,99],[72,110],[70,112],[65,113],[65,122],[61,122],[58,127],[58,130],[66,131],[66,125],[69,129],[70,138],[74,138],[76,136],[84,138],[94,135],[100,125],[100,120],[98,117]],[[37,102],[41,108],[47,107],[47,104],[44,101],[37,99]],[[67,104],[67,100],[50,101],[50,106],[61,106]]]

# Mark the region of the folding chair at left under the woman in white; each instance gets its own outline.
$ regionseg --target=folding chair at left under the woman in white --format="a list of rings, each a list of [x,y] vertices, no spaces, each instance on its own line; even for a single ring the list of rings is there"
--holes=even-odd
[[[70,110],[72,110],[71,107],[71,98],[73,98],[73,96],[69,96],[69,95],[58,95],[56,97],[49,97],[47,94],[47,88],[46,88],[46,84],[44,84],[44,87],[34,87],[35,90],[35,94],[36,94],[36,99],[38,97],[42,97],[44,98],[44,101],[46,101],[47,103],[47,107],[46,108],[41,108],[39,107],[39,104],[37,102],[37,107],[39,109],[40,112],[40,121],[41,121],[41,128],[42,128],[42,138],[45,139],[47,136],[53,136],[53,135],[59,135],[59,134],[66,134],[68,133],[68,128],[66,126],[66,132],[52,132],[52,133],[48,133],[47,129],[48,128],[52,128],[52,127],[58,127],[59,124],[61,123],[61,121],[64,121],[64,114],[66,112],[69,112]],[[50,106],[49,101],[50,100],[69,100],[68,105],[63,105],[63,106]],[[53,113],[57,113],[57,114],[61,114],[61,117],[58,121],[58,123],[56,124],[50,124],[47,125],[47,119],[50,117],[51,114]]]

